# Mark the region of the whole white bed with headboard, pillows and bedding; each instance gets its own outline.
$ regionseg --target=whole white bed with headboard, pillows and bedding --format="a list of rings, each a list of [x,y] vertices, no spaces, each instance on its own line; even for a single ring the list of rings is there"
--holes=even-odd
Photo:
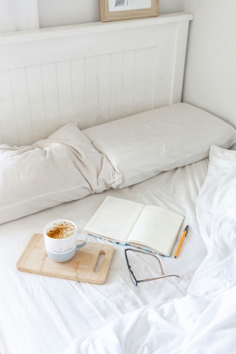
[[[0,36],[1,354],[213,354],[215,323],[219,353],[233,353],[227,291],[235,282],[228,271],[234,235],[226,237],[232,254],[217,235],[225,226],[220,197],[226,230],[236,229],[235,192],[228,195],[224,188],[234,178],[234,151],[227,148],[236,143],[236,131],[179,103],[192,18],[172,14]],[[55,163],[52,174],[43,169],[45,156]],[[60,168],[65,161],[68,177]],[[77,189],[71,176],[81,183]],[[40,198],[34,198],[37,193]],[[125,247],[117,244],[103,285],[16,269],[34,233],[59,218],[83,230],[107,195],[185,216],[181,231],[188,224],[189,233],[179,257],[160,256],[165,274],[174,271],[179,278],[134,287]],[[92,236],[89,241],[106,243]],[[222,252],[216,259],[217,247]],[[150,257],[135,254],[133,262],[140,278],[157,276]],[[228,322],[217,312],[217,301]],[[229,336],[225,347],[220,331]]]

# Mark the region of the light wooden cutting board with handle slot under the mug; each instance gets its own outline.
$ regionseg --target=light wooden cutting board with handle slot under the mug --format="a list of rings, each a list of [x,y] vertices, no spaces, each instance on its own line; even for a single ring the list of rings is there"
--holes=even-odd
[[[95,272],[100,254],[105,256],[99,272]],[[29,273],[85,283],[104,284],[113,254],[114,247],[112,245],[87,242],[86,246],[76,251],[71,260],[62,263],[55,262],[48,257],[45,251],[43,235],[34,234],[19,258],[16,267],[18,270]]]

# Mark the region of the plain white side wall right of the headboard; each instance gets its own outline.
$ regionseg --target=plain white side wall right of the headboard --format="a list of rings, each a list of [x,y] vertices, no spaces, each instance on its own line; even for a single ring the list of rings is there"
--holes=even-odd
[[[194,14],[182,100],[236,127],[236,0],[184,0]]]

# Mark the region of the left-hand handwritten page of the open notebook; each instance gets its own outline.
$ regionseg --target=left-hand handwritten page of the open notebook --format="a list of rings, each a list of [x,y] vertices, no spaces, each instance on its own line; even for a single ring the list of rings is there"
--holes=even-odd
[[[144,205],[108,196],[84,230],[91,235],[125,242]]]

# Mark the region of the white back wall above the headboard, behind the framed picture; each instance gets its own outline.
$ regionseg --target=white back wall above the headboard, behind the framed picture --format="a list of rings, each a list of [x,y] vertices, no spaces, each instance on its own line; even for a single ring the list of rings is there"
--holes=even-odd
[[[159,0],[159,12],[181,12],[184,0]],[[100,21],[99,0],[38,0],[39,26],[54,27]]]

